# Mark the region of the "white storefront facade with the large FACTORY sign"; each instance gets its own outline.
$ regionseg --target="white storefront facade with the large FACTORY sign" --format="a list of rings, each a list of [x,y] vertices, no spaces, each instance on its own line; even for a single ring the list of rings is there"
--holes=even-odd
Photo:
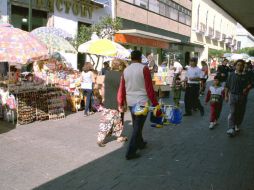
[[[29,30],[29,0],[1,0],[1,20],[11,23],[14,27]],[[82,25],[99,22],[105,15],[111,15],[110,1],[90,0],[32,0],[31,29],[41,26],[61,28],[75,37]],[[77,69],[77,54],[63,53],[73,68]]]

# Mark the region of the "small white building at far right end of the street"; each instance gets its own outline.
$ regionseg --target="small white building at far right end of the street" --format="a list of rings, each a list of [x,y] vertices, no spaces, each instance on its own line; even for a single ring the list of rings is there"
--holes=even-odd
[[[238,41],[238,49],[246,47],[254,47],[254,36],[251,35],[242,25],[237,24],[237,35],[236,39]]]

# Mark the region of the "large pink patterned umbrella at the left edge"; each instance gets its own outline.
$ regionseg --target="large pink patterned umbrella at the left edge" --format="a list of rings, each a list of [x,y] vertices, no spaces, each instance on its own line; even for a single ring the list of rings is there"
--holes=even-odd
[[[28,32],[9,24],[0,25],[0,62],[26,64],[47,55],[47,47]]]

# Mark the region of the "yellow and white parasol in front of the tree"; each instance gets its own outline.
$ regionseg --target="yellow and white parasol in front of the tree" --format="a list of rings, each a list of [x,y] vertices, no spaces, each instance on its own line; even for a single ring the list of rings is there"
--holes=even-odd
[[[107,39],[90,40],[81,44],[78,51],[80,53],[112,56],[117,58],[127,58],[130,56],[130,52],[125,47]]]

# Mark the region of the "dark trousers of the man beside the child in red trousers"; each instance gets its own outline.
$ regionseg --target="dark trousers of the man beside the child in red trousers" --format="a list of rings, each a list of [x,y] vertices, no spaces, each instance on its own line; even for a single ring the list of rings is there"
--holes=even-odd
[[[235,128],[235,125],[241,125],[247,103],[247,96],[230,94],[229,106],[230,113],[228,116],[228,128]]]

